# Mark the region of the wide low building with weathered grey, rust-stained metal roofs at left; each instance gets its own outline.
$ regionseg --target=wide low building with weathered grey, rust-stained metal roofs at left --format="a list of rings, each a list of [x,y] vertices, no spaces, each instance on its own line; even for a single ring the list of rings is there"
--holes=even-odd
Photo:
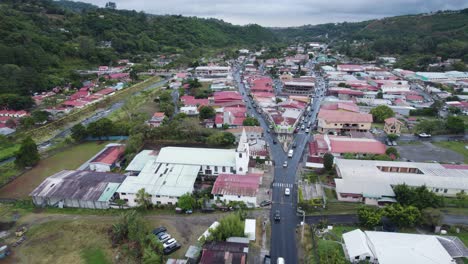
[[[30,194],[35,206],[108,209],[125,175],[63,170],[46,178]]]

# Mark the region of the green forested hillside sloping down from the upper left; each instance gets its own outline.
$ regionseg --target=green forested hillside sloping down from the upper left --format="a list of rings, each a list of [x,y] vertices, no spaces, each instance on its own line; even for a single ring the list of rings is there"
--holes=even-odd
[[[258,25],[216,19],[154,16],[69,1],[1,1],[0,94],[44,91],[73,81],[75,69],[109,65],[118,58],[196,54],[204,48],[274,40],[270,30]]]

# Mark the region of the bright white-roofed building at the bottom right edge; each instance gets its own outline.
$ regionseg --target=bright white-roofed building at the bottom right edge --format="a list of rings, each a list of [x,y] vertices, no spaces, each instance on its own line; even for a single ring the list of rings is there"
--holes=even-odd
[[[343,234],[345,256],[351,263],[456,263],[464,257],[461,240],[446,236],[361,231]],[[466,254],[466,253],[465,253]]]

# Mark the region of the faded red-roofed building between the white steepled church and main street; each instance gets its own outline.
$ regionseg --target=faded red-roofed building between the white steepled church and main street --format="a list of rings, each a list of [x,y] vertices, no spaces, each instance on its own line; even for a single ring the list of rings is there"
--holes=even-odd
[[[247,207],[257,207],[257,193],[262,181],[262,174],[247,173],[219,174],[211,190],[215,200],[244,202]]]

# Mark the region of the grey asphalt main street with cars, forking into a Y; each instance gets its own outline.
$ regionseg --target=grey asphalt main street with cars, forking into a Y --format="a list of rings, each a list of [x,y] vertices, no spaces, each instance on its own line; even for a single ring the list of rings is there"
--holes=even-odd
[[[248,96],[244,84],[241,81],[239,68],[234,72],[234,79],[238,83],[240,92],[243,94],[244,100],[249,108],[249,114],[256,117],[260,121],[260,125],[264,131],[268,131],[269,124],[265,118],[259,114],[253,107],[252,100]],[[305,113],[304,123],[311,122],[312,125],[316,122],[316,117],[320,109],[320,101],[323,98],[326,87],[324,80],[317,75],[316,93],[311,105],[310,113]],[[304,150],[309,141],[309,134],[304,130],[300,130],[295,134],[294,142],[296,148],[292,158],[288,158],[281,144],[274,144],[276,140],[274,131],[265,133],[265,140],[270,146],[271,159],[274,164],[274,181],[272,185],[272,207],[270,211],[271,219],[271,249],[270,255],[273,263],[276,263],[278,257],[285,259],[286,263],[298,263],[297,243],[296,243],[296,227],[300,218],[296,215],[297,211],[297,185],[296,175],[299,164],[303,158]],[[276,140],[277,141],[277,140]],[[283,162],[288,161],[288,166],[283,167]],[[286,196],[285,189],[289,188],[291,194]],[[279,211],[281,220],[275,222],[273,217],[276,211]]]

